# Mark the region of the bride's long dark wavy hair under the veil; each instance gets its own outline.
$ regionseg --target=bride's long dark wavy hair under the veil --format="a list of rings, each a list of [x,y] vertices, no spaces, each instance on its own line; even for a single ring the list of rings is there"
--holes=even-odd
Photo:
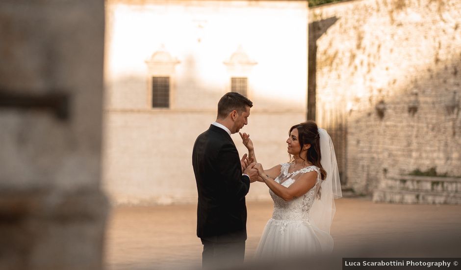
[[[299,144],[301,145],[301,150],[299,151],[300,158],[304,145],[310,144],[309,149],[307,149],[307,161],[317,166],[320,169],[322,180],[325,179],[325,177],[327,176],[327,172],[323,169],[322,164],[320,163],[322,155],[320,153],[320,135],[317,124],[314,121],[306,121],[304,123],[294,125],[290,128],[290,132],[288,133],[288,135],[291,134],[293,129],[298,130],[298,140]],[[290,162],[292,162],[293,160],[294,157],[291,157]]]

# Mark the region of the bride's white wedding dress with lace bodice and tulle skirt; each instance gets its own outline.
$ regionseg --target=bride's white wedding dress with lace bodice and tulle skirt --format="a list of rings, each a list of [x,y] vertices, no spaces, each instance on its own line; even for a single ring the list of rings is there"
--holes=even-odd
[[[317,187],[321,184],[320,171],[316,166],[308,166],[288,173],[291,163],[282,163],[281,174],[275,179],[284,187],[289,187],[302,174],[316,171],[317,183],[303,196],[285,201],[272,190],[274,212],[267,222],[256,249],[256,258],[286,258],[306,256],[333,249],[333,238],[329,230],[321,230],[309,220],[309,212],[316,200]],[[322,186],[323,188],[323,186]]]

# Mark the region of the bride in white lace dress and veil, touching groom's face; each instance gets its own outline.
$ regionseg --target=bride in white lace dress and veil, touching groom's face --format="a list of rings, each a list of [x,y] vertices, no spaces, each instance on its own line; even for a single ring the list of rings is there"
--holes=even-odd
[[[256,162],[250,135],[241,134],[248,149],[242,161]],[[274,212],[256,249],[256,258],[306,256],[333,250],[330,227],[334,199],[342,196],[330,135],[307,121],[290,128],[286,140],[290,162],[264,170],[256,163],[259,181],[269,187]]]

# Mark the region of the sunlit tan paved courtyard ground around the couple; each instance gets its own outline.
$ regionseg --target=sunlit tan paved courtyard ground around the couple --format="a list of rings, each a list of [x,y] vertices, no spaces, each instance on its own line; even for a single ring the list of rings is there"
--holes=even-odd
[[[461,257],[461,205],[341,198],[336,208],[332,235],[339,257]],[[247,209],[246,260],[251,260],[272,202],[247,202]],[[200,268],[202,244],[195,232],[196,205],[113,208],[106,229],[106,269]],[[391,251],[382,252],[384,246]]]

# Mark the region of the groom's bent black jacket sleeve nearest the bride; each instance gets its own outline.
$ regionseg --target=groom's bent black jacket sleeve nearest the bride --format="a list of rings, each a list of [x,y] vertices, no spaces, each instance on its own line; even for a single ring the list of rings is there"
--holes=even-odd
[[[242,175],[238,152],[233,144],[223,145],[218,154],[218,164],[226,193],[238,200],[243,199],[250,190],[250,179]]]

